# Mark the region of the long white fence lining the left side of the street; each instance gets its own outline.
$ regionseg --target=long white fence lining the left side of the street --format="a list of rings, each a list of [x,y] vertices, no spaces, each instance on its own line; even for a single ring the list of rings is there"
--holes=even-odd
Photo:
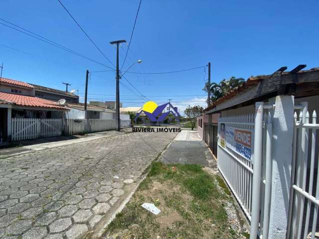
[[[131,127],[129,119],[121,119],[121,128]],[[11,140],[74,135],[114,130],[115,119],[18,119],[11,121]]]

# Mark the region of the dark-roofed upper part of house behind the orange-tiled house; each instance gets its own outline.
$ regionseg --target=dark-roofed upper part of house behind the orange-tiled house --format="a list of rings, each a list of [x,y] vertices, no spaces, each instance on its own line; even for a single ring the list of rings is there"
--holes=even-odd
[[[60,99],[66,100],[66,102],[72,102],[72,103],[79,103],[79,96],[74,95],[71,92],[65,92],[60,91],[44,86],[39,86],[35,84],[30,84],[34,88],[34,94],[36,97],[52,100],[52,101],[58,101]]]

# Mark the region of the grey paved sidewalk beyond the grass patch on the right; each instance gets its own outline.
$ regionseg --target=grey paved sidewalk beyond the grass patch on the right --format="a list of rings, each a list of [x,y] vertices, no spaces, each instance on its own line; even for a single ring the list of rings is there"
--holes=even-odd
[[[164,163],[200,164],[216,167],[216,160],[197,131],[182,130],[160,156]]]

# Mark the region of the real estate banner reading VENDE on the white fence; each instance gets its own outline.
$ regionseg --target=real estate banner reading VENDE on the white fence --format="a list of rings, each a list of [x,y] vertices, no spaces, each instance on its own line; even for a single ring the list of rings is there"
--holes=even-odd
[[[252,161],[252,130],[226,126],[225,135],[228,148]]]

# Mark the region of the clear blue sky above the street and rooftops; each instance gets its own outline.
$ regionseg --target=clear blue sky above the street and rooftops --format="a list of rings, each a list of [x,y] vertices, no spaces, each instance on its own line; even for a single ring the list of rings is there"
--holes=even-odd
[[[116,51],[109,42],[129,40],[139,0],[62,2],[115,64]],[[123,70],[138,59],[143,62],[131,71],[175,71],[204,66],[210,61],[211,80],[219,82],[230,76],[247,79],[270,74],[281,66],[288,70],[298,64],[307,64],[308,69],[318,67],[318,8],[318,0],[142,0]],[[2,1],[0,18],[111,66],[57,0]],[[0,36],[3,77],[61,90],[65,89],[61,82],[69,82],[70,88],[79,89],[83,97],[86,69],[107,70],[1,24]],[[126,45],[120,49],[120,63],[126,49]],[[158,104],[173,99],[173,105],[180,109],[188,104],[204,106],[204,68],[166,75],[125,76]],[[121,82],[125,85],[120,85],[124,106],[143,105],[146,100],[139,97],[140,93],[125,79]],[[92,73],[89,100],[114,99],[114,72]]]

